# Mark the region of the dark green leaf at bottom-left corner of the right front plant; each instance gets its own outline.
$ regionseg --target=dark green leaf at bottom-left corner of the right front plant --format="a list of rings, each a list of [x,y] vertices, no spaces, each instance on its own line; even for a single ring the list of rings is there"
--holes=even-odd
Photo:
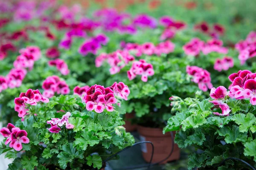
[[[188,169],[192,170],[194,167],[201,167],[203,162],[207,159],[207,154],[192,153],[189,156]]]

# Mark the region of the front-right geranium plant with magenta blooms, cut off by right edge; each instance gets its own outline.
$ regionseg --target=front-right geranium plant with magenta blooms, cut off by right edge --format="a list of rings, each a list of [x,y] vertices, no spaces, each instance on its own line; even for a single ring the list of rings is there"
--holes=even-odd
[[[255,76],[248,70],[231,74],[230,91],[212,88],[209,99],[201,100],[199,91],[196,98],[172,98],[175,116],[163,132],[179,130],[175,143],[198,150],[189,156],[188,169],[249,168],[242,161],[256,167]]]

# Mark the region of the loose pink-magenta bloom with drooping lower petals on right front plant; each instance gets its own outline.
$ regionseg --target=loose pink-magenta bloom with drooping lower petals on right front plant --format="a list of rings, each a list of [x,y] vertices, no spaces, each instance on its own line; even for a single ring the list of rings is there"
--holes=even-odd
[[[213,103],[214,105],[218,105],[221,108],[222,113],[213,112],[216,115],[221,116],[229,116],[229,112],[231,111],[229,106],[224,103],[224,98],[227,96],[227,89],[223,86],[219,86],[218,88],[212,88],[210,92],[210,96],[212,97],[212,101],[209,101]]]

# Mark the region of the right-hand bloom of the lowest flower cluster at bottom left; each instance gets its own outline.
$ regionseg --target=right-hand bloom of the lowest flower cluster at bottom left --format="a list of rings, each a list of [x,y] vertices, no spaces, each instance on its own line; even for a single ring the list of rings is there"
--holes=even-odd
[[[10,143],[9,147],[13,147],[13,149],[20,151],[22,149],[22,143],[29,143],[29,138],[26,137],[27,135],[28,133],[26,130],[17,130],[12,132],[12,142]]]

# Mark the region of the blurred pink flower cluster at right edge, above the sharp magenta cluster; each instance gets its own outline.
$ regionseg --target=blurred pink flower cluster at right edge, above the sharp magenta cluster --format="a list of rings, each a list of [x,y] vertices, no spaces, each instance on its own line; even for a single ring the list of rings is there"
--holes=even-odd
[[[238,59],[243,65],[247,59],[256,56],[256,32],[252,31],[247,35],[245,40],[241,40],[235,45],[239,51]]]

